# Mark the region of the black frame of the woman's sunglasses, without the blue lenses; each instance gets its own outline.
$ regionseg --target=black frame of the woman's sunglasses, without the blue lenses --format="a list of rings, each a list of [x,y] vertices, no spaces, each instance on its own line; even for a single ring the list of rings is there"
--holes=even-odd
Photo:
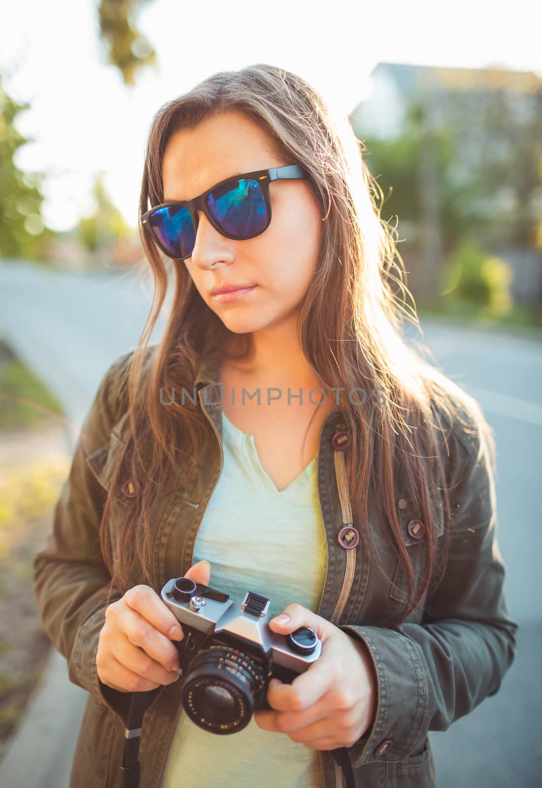
[[[269,225],[271,224],[271,199],[269,196],[269,184],[272,180],[302,180],[308,178],[308,173],[306,170],[303,169],[298,164],[287,164],[283,167],[271,167],[270,169],[256,169],[253,173],[244,173],[242,175],[236,175],[234,177],[224,178],[224,180],[220,180],[218,184],[214,184],[210,189],[202,192],[201,195],[194,197],[193,199],[188,200],[171,200],[169,203],[160,203],[160,205],[155,205],[150,210],[147,210],[145,214],[141,217],[142,225],[146,228],[146,230],[150,233],[155,243],[157,243],[158,247],[160,247],[161,251],[164,252],[164,255],[167,255],[172,260],[186,260],[187,258],[192,256],[192,252],[190,255],[185,255],[184,257],[173,257],[164,247],[162,243],[160,243],[160,239],[158,238],[156,232],[154,232],[153,226],[150,224],[150,216],[154,213],[155,210],[159,210],[160,208],[168,208],[170,206],[184,206],[188,209],[190,213],[190,217],[192,218],[192,223],[194,225],[194,236],[197,234],[197,225],[198,225],[198,217],[196,214],[197,210],[201,210],[203,214],[208,218],[208,221],[212,224],[212,226],[223,236],[226,238],[231,238],[232,240],[249,240],[249,238],[256,238],[256,236],[260,236],[262,232],[265,232]],[[233,236],[230,235],[229,232],[226,232],[220,225],[216,222],[216,220],[211,216],[208,211],[207,206],[205,205],[205,200],[207,199],[208,195],[211,194],[219,186],[222,184],[227,183],[236,183],[238,180],[248,180],[252,178],[253,180],[257,180],[260,184],[261,192],[264,197],[264,203],[267,210],[267,222],[264,229],[260,230],[259,232],[255,232],[252,236]],[[194,251],[194,250],[193,250]]]

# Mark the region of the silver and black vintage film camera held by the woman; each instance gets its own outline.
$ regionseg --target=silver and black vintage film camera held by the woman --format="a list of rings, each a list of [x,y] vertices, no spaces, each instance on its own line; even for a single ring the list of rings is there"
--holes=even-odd
[[[310,627],[273,632],[270,600],[252,591],[239,602],[190,578],[171,578],[160,598],[183,627],[183,640],[173,641],[184,679],[181,702],[203,730],[242,730],[253,712],[270,708],[271,678],[289,684],[320,656],[322,643]]]

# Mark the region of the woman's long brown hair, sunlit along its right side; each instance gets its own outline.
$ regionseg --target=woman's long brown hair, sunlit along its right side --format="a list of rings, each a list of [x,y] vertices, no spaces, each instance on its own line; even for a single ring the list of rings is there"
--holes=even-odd
[[[371,545],[367,502],[373,496],[396,544],[407,578],[407,604],[396,622],[400,623],[417,606],[439,562],[437,535],[430,527],[426,529],[426,563],[416,595],[396,511],[398,474],[407,481],[423,522],[433,522],[437,492],[449,537],[450,507],[440,459],[440,444],[446,442],[448,433],[441,414],[456,413],[454,403],[468,404],[474,426],[484,434],[494,454],[490,428],[477,403],[423,358],[422,344],[416,349],[405,344],[403,324],[418,325],[418,318],[396,250],[396,230],[382,220],[377,206],[376,196],[382,200],[382,191],[367,169],[363,143],[356,139],[352,127],[335,120],[322,96],[300,76],[259,63],[213,74],[161,106],[146,144],[140,220],[146,210],[164,202],[162,162],[171,134],[228,110],[241,110],[259,123],[284,162],[300,164],[310,176],[321,211],[323,237],[315,275],[300,305],[300,347],[326,386],[345,392],[378,389],[378,407],[356,407],[347,399],[341,403],[350,435],[346,467],[354,525],[362,531],[362,538],[365,532],[367,545]],[[185,478],[197,472],[208,430],[197,404],[186,407],[186,402],[174,402],[164,407],[157,392],[160,388],[164,392],[192,391],[201,359],[219,354],[231,337],[197,292],[184,263],[165,258],[142,229],[141,221],[140,235],[153,273],[154,294],[127,374],[131,436],[122,459],[138,496],[124,526],[122,559],[116,567],[109,539],[109,511],[121,463],[112,479],[100,530],[112,586],[121,593],[138,582],[153,587],[160,582],[152,575],[150,560],[152,503],[164,492],[163,480],[171,463],[186,469]],[[164,334],[146,365],[149,337],[168,294],[170,276],[174,279],[171,310]],[[241,338],[246,340],[248,352],[250,336]]]

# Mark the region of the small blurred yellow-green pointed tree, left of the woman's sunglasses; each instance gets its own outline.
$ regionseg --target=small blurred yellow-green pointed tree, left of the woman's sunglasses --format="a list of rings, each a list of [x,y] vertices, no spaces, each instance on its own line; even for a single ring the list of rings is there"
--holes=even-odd
[[[110,267],[113,264],[116,243],[130,239],[134,233],[109,199],[101,174],[96,178],[92,193],[96,211],[92,216],[83,217],[79,221],[77,236],[83,247],[90,252],[90,261],[95,266]]]

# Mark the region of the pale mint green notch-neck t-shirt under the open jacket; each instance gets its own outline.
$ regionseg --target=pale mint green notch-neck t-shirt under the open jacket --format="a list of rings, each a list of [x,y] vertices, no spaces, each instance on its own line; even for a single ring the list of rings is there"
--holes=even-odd
[[[316,455],[278,490],[256,452],[254,436],[223,413],[222,474],[201,521],[194,563],[211,564],[209,585],[242,601],[247,591],[271,600],[272,615],[297,602],[318,611],[327,545],[319,504]],[[235,734],[201,730],[182,713],[163,788],[322,788],[318,750],[254,719]]]

